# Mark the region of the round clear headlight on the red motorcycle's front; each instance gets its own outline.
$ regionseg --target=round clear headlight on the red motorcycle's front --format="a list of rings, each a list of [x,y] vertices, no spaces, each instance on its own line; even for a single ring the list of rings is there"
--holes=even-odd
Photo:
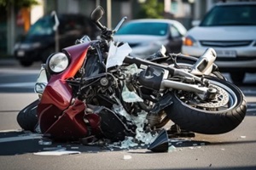
[[[69,64],[69,60],[67,55],[64,53],[55,53],[49,56],[47,61],[47,65],[50,72],[60,73],[61,71],[65,71],[67,69],[67,65]]]

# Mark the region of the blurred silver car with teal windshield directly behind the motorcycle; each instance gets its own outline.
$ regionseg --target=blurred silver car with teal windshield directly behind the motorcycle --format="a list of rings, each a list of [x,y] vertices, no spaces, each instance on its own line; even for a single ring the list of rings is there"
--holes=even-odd
[[[186,28],[176,20],[131,20],[113,36],[115,41],[128,42],[131,56],[142,59],[157,52],[162,45],[168,53],[180,53]]]

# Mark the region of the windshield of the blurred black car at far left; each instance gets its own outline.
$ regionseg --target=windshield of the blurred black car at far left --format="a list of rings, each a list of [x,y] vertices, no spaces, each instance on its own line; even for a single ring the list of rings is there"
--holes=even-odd
[[[46,36],[53,33],[54,20],[51,16],[39,19],[27,32],[28,36]]]

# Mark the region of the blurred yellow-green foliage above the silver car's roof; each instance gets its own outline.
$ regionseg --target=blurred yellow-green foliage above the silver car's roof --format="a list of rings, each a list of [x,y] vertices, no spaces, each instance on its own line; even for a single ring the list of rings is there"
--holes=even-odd
[[[164,18],[164,3],[159,0],[146,0],[142,3],[138,18],[161,19]]]

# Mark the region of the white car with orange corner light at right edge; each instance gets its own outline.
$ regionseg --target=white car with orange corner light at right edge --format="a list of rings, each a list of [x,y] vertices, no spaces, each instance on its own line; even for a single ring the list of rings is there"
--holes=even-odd
[[[182,53],[199,57],[214,48],[220,71],[236,84],[256,72],[256,3],[218,3],[187,32]]]

